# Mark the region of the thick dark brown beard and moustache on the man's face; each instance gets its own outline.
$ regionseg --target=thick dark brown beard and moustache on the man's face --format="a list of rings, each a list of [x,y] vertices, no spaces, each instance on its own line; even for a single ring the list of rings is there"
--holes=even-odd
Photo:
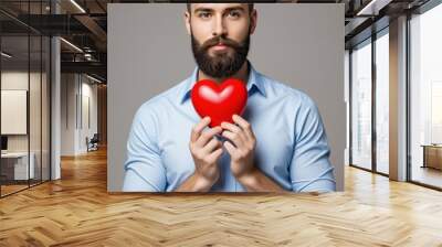
[[[214,52],[213,56],[209,54],[209,49],[222,43],[233,50]],[[223,35],[214,36],[203,44],[200,44],[191,33],[191,44],[193,57],[199,68],[208,76],[213,78],[227,78],[240,71],[244,64],[250,47],[250,29],[245,40],[241,43],[227,39]],[[229,49],[228,49],[229,50]]]

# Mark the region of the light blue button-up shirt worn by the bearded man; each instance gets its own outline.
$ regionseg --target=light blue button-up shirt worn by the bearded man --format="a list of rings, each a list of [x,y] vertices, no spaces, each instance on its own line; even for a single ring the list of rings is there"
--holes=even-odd
[[[127,141],[123,191],[170,192],[192,175],[190,132],[201,119],[190,99],[197,75],[198,67],[189,78],[137,110]],[[287,191],[335,191],[330,150],[315,103],[253,66],[246,88],[249,98],[242,117],[256,138],[255,165]],[[231,173],[225,149],[218,164],[221,175],[211,191],[246,191]]]

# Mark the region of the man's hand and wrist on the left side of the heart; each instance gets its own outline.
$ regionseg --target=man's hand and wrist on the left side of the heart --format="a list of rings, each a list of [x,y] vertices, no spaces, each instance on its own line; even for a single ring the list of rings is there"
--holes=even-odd
[[[222,143],[214,137],[222,131],[214,127],[202,131],[210,124],[210,117],[203,118],[191,131],[189,149],[194,162],[194,173],[178,191],[209,191],[220,178],[218,160],[222,154]]]

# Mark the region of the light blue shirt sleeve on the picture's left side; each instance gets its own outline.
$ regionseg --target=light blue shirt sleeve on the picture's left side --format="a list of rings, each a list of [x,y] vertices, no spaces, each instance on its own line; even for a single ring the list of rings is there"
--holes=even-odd
[[[127,140],[124,192],[164,192],[166,170],[161,163],[154,116],[138,111]]]

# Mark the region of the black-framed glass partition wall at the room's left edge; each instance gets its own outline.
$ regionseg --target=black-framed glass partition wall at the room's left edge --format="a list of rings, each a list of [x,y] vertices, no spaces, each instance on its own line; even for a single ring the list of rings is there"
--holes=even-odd
[[[50,37],[18,21],[49,13],[48,6],[0,2],[17,10],[17,15],[0,12],[1,197],[50,180]]]

